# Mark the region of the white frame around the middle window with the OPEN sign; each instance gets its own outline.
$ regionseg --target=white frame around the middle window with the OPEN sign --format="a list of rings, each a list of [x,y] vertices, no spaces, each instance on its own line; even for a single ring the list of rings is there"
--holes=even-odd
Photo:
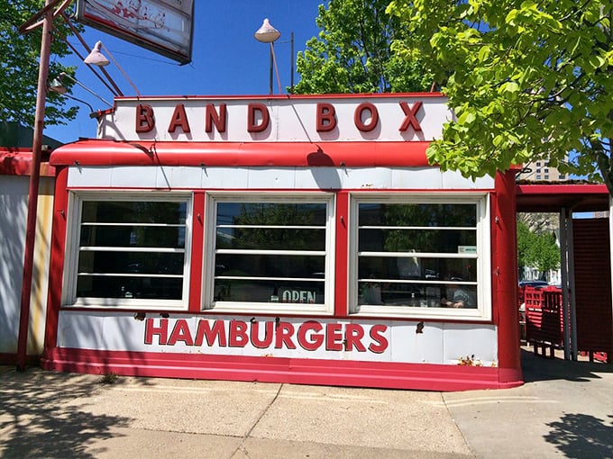
[[[326,204],[325,250],[314,252],[325,256],[325,300],[323,304],[271,302],[215,302],[215,239],[217,202],[322,202]],[[261,314],[332,315],[334,313],[334,241],[335,194],[322,192],[208,192],[206,193],[205,254],[203,257],[202,310],[215,312],[249,312]],[[252,253],[252,251],[245,251]],[[261,250],[270,255],[293,255],[293,250]]]

